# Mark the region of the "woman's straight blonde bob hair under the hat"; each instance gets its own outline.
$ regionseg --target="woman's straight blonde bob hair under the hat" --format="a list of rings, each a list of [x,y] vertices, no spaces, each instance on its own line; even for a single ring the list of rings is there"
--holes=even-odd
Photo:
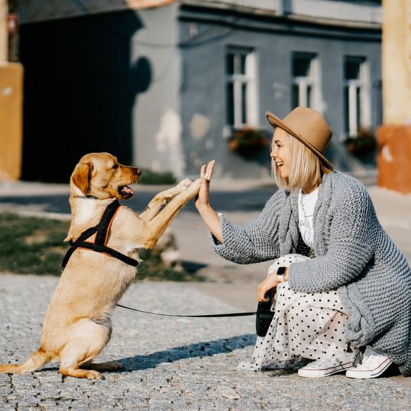
[[[289,150],[290,170],[287,178],[283,178],[275,160],[271,158],[271,172],[275,179],[275,184],[290,191],[298,190],[306,186],[316,186],[321,183],[324,173],[331,173],[330,170],[306,145],[297,140],[294,136],[280,127],[275,129],[275,133],[280,133],[284,138],[284,145]],[[274,138],[271,142],[273,150]]]

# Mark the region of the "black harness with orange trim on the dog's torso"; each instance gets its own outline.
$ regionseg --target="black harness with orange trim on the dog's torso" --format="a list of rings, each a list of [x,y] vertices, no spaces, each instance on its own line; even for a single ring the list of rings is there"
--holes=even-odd
[[[67,251],[66,256],[64,256],[61,265],[62,270],[66,268],[67,262],[69,262],[70,257],[77,249],[96,251],[97,253],[102,253],[105,256],[117,258],[118,260],[121,260],[126,264],[138,266],[138,261],[134,260],[134,258],[127,257],[119,251],[107,247],[106,245],[108,241],[108,232],[110,230],[114,217],[117,214],[117,211],[119,211],[119,207],[119,201],[113,201],[105,209],[99,224],[97,224],[95,227],[86,229],[86,231],[83,232],[79,236],[79,238],[77,238],[77,240],[70,240],[69,244],[71,245],[71,248],[69,249],[69,251]],[[92,240],[87,240],[87,238],[89,238],[93,234],[95,234],[94,242],[92,242]]]

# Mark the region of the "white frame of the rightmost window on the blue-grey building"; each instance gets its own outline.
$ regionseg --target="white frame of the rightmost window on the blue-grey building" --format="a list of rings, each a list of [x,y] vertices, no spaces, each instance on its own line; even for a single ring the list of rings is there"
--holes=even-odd
[[[344,79],[344,85],[348,87],[348,136],[358,136],[360,127],[371,127],[371,96],[369,87],[369,64],[366,58],[361,56],[346,55],[347,60],[356,61],[360,64],[358,79]],[[357,104],[357,91],[360,92],[360,107]],[[345,98],[345,97],[344,97]],[[360,110],[360,115],[358,115]],[[345,114],[346,115],[346,114]],[[344,117],[345,117],[344,115]],[[358,123],[358,117],[360,123]]]

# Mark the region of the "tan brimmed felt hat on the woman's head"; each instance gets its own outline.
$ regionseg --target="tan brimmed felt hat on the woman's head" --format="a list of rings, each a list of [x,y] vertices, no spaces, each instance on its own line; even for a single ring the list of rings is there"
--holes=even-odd
[[[314,151],[327,168],[334,169],[324,157],[329,140],[332,138],[332,131],[318,111],[312,108],[297,107],[284,119],[279,119],[271,112],[266,112],[266,118],[273,127],[282,128]]]

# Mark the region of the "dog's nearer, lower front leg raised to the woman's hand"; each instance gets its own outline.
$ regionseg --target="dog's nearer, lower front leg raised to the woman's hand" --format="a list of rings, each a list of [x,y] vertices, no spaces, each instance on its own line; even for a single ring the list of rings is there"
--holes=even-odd
[[[175,214],[180,208],[184,207],[190,199],[195,197],[199,192],[201,186],[201,179],[196,179],[190,186],[175,196],[155,218],[147,223],[147,236],[145,236],[144,243],[146,249],[152,249],[165,229],[169,227]]]

